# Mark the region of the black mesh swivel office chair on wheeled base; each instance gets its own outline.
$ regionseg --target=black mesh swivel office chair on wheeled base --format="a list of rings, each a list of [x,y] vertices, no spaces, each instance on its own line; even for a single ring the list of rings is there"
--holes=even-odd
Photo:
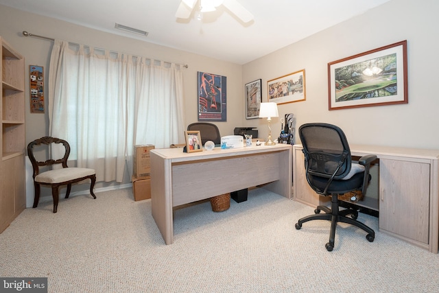
[[[370,180],[370,163],[377,159],[377,156],[362,156],[358,163],[353,163],[344,132],[331,124],[304,124],[299,128],[299,137],[303,145],[302,152],[305,154],[305,169],[309,186],[321,196],[331,196],[331,209],[318,206],[314,210],[314,215],[298,220],[296,229],[300,230],[303,223],[311,220],[331,221],[329,242],[325,246],[328,251],[334,248],[337,222],[363,229],[368,233],[366,239],[373,242],[375,232],[356,220],[357,210],[350,208],[339,210],[338,196],[351,191],[361,191],[363,195],[366,195]],[[325,213],[320,214],[320,211]]]

